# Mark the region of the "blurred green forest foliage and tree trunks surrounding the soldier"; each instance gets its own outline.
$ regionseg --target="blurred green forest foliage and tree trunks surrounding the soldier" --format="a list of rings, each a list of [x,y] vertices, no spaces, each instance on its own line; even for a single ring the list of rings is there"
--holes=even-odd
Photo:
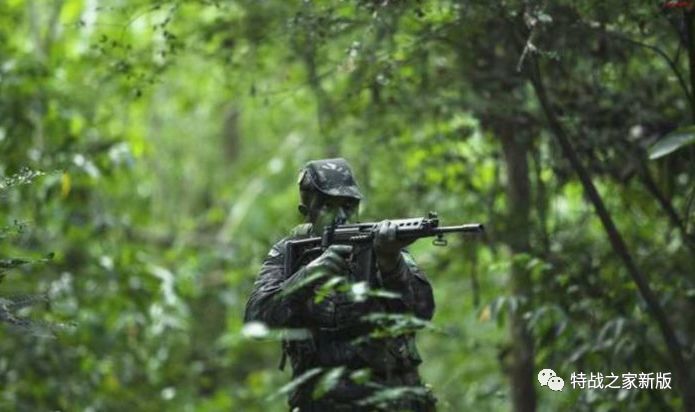
[[[411,249],[440,410],[695,408],[681,3],[0,1],[0,410],[285,410],[243,310],[335,156],[361,220],[487,227]]]

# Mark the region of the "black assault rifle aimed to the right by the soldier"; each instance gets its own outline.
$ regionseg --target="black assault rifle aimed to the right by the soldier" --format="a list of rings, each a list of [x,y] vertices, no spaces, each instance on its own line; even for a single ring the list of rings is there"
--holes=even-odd
[[[458,226],[439,226],[439,218],[434,212],[427,217],[393,219],[397,225],[396,238],[402,240],[417,240],[423,237],[434,237],[432,244],[446,246],[444,235],[447,233],[480,234],[485,228],[480,223],[467,223]],[[372,247],[374,230],[378,222],[344,224],[334,221],[323,230],[321,236],[289,240],[285,250],[285,276],[288,277],[317,258],[330,245],[351,245],[352,255],[349,259],[350,275],[353,281],[367,280],[371,286],[376,273],[376,261]],[[364,279],[364,277],[367,279]],[[362,279],[360,279],[362,277]]]

